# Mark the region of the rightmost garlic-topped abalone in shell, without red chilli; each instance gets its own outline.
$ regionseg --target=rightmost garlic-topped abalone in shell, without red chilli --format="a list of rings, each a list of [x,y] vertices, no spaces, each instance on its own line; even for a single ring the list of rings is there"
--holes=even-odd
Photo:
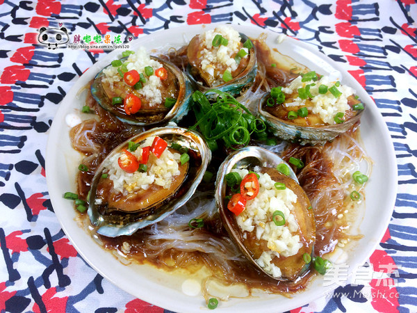
[[[332,141],[359,121],[364,109],[352,88],[316,72],[272,88],[258,106],[275,136],[302,145]]]

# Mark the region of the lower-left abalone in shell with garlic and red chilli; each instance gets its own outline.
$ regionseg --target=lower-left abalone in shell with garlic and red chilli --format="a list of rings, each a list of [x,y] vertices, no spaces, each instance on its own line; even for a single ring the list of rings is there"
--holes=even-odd
[[[161,127],[113,150],[92,180],[88,214],[99,234],[120,236],[162,220],[201,182],[211,152],[199,134]]]

